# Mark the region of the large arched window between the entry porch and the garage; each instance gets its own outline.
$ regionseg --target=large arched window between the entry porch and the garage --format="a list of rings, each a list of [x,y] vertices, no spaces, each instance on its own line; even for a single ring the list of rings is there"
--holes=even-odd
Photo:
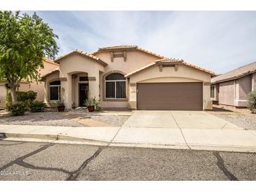
[[[126,78],[123,74],[109,74],[105,78],[105,97],[112,99],[126,98]]]

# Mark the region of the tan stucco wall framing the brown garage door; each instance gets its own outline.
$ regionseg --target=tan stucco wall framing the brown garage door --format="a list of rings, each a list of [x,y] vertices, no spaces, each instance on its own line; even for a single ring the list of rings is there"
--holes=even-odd
[[[163,71],[159,71],[159,66],[153,66],[130,76],[130,107],[136,108],[136,83],[165,82],[203,82],[203,109],[212,109],[210,74],[183,64],[179,64],[177,71],[175,71],[174,67],[163,67]]]

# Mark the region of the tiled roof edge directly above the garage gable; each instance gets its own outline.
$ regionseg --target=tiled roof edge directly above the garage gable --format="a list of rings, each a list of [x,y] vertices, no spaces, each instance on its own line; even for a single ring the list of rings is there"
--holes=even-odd
[[[137,69],[137,70],[135,70],[135,71],[132,71],[132,72],[130,72],[129,74],[126,74],[125,77],[127,78],[127,77],[129,77],[129,76],[132,76],[133,74],[136,74],[136,73],[139,72],[139,71],[142,71],[142,70],[147,69],[147,68],[149,68],[149,67],[151,67],[151,66],[154,66],[155,64],[168,64],[168,63],[181,63],[181,64],[187,65],[187,66],[189,66],[189,67],[192,67],[192,68],[194,68],[194,69],[198,69],[198,70],[200,70],[200,71],[204,71],[204,72],[206,72],[206,73],[208,73],[208,74],[211,74],[211,75],[213,75],[213,76],[216,76],[215,72],[210,71],[210,70],[208,70],[208,69],[204,69],[204,68],[202,68],[202,67],[198,67],[198,66],[196,66],[195,64],[191,64],[191,63],[189,63],[189,62],[184,62],[184,60],[175,59],[175,58],[170,58],[170,59],[156,60],[155,62],[152,62],[151,64],[148,64],[148,65],[146,65],[146,66],[144,66],[144,67],[142,67],[142,68],[140,68],[140,69]]]

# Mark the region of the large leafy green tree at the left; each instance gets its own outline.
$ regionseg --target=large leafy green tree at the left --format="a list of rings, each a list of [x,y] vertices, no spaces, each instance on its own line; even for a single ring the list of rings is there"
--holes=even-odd
[[[58,53],[53,33],[36,13],[0,11],[0,81],[6,81],[13,103],[20,81],[38,81],[43,57]]]

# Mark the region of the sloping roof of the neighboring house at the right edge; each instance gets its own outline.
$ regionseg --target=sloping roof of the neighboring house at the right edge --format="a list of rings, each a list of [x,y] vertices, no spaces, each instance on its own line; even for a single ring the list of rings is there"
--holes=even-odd
[[[215,76],[214,78],[211,79],[211,83],[214,84],[214,83],[234,80],[237,78],[241,78],[242,76],[252,74],[254,72],[256,72],[256,62],[252,62],[251,64],[246,64],[242,67],[238,67],[225,74],[221,74],[220,76]]]

